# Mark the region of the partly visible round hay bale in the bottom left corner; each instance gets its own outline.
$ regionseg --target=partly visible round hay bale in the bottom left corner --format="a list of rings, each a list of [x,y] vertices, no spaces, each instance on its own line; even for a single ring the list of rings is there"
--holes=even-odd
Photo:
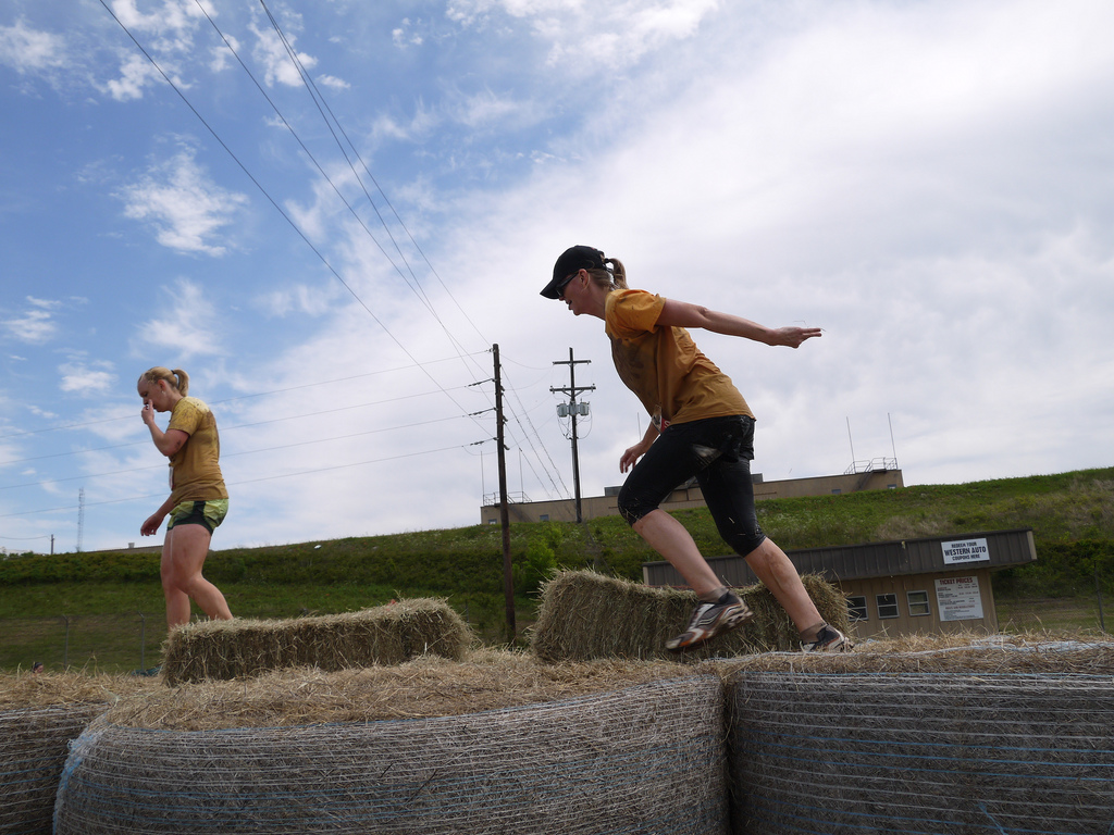
[[[120,694],[149,688],[127,677],[0,676],[0,833],[50,835],[70,740]]]

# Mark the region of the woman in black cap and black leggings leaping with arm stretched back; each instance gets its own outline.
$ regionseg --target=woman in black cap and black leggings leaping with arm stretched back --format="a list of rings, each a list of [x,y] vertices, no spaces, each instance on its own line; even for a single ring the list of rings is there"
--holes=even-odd
[[[694,647],[754,615],[723,586],[685,527],[658,507],[677,484],[695,475],[720,536],[793,619],[801,649],[849,650],[847,637],[820,617],[789,557],[759,527],[750,466],[754,414],[686,330],[703,327],[795,348],[819,336],[820,328],[770,328],[629,289],[623,264],[590,246],[566,249],[541,295],[565,302],[577,316],[604,320],[615,370],[649,412],[646,434],[619,459],[619,470],[631,470],[619,491],[619,512],[700,598],[687,629],[665,646]]]

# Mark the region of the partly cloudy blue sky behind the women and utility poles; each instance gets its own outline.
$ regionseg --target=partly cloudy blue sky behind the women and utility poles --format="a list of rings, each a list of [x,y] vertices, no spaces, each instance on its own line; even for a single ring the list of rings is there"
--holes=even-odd
[[[1108,466],[1112,36],[1106,0],[2,0],[0,548],[74,550],[80,491],[85,550],[154,542],[152,365],[217,413],[217,549],[477,523],[494,343],[512,493],[571,494],[570,347],[583,492],[620,483],[646,418],[538,296],[573,244],[824,328],[694,334],[768,480]]]

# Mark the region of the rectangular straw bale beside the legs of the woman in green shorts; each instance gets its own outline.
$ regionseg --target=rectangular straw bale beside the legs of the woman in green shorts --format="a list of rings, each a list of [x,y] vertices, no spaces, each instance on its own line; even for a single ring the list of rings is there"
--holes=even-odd
[[[163,676],[177,685],[285,667],[402,664],[427,652],[459,659],[472,640],[463,619],[431,599],[287,620],[209,620],[170,632]]]

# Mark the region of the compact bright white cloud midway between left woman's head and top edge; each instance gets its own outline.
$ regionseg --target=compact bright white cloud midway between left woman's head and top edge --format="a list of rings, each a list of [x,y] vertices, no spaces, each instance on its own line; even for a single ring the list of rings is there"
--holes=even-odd
[[[245,195],[211,181],[188,147],[152,167],[119,197],[126,204],[125,216],[150,224],[163,246],[213,256],[227,250],[219,233],[248,202]]]

